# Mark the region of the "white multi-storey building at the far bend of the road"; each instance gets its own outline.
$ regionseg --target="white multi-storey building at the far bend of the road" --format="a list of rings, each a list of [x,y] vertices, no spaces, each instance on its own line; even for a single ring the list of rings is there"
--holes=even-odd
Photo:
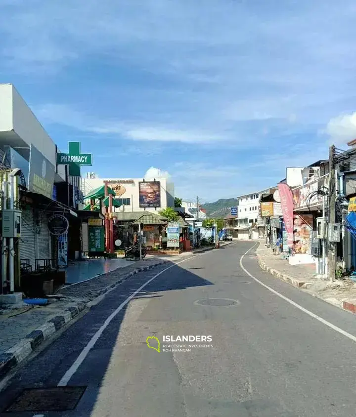
[[[265,219],[260,215],[260,199],[268,190],[237,197],[239,239],[261,239],[264,237]]]

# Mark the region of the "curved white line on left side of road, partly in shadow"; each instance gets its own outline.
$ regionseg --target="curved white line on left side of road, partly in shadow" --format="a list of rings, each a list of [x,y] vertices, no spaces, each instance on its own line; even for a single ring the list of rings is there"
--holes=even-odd
[[[198,255],[190,256],[189,258],[183,259],[179,262],[176,262],[173,265],[168,266],[167,268],[163,269],[158,274],[154,275],[152,278],[150,278],[148,281],[146,281],[143,285],[141,285],[140,288],[138,288],[135,292],[133,292],[124,302],[122,302],[119,307],[110,314],[110,316],[105,320],[104,324],[100,327],[100,329],[92,336],[92,338],[89,340],[87,346],[82,350],[82,352],[79,354],[78,358],[74,361],[73,365],[68,369],[68,371],[63,375],[62,379],[58,382],[57,386],[66,386],[72,376],[78,371],[79,367],[82,365],[85,358],[88,356],[88,353],[90,349],[95,345],[95,343],[99,340],[100,336],[103,334],[104,330],[109,326],[110,322],[115,318],[115,316],[125,307],[126,304],[128,304],[129,301],[131,301],[136,294],[138,294],[146,285],[148,285],[150,282],[152,282],[154,279],[156,279],[158,276],[166,272],[168,269],[173,268],[176,265],[179,265],[182,262],[185,262],[189,259],[197,258],[199,256],[204,255],[205,253],[209,252],[203,252]],[[113,289],[112,289],[113,290]],[[112,291],[111,290],[111,291]]]

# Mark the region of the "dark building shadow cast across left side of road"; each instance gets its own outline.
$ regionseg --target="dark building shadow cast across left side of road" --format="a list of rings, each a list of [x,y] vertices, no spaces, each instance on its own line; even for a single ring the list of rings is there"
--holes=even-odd
[[[157,273],[171,265],[173,263],[169,262],[163,266],[140,272],[121,283],[115,290],[108,293],[99,304],[91,307],[88,313],[80,320],[75,322],[51,344],[46,346],[37,357],[22,369],[19,369],[10,380],[7,388],[0,392],[0,416],[32,417],[36,414],[41,415],[47,413],[49,411],[48,404],[50,404],[50,401],[47,401],[47,405],[42,409],[40,407],[34,410],[23,410],[22,412],[15,411],[10,414],[4,413],[4,411],[25,388],[56,387],[59,380],[72,366],[89,341],[127,296],[139,289]],[[200,270],[205,268],[190,268],[190,270],[193,269]],[[140,292],[137,292],[133,299],[117,312],[108,327],[89,350],[88,356],[68,383],[69,386],[87,386],[86,392],[76,407],[76,411],[73,412],[75,416],[99,417],[98,411],[94,411],[94,408],[100,395],[100,387],[103,384],[108,365],[112,361],[113,351],[115,348],[118,349],[117,340],[120,329],[127,309],[131,304],[135,303],[136,300],[144,298],[162,298],[165,296],[163,292],[167,291],[213,285],[210,281],[195,275],[190,270],[175,265],[167,273],[162,273],[147,284]],[[173,277],[174,280],[171,280]],[[146,340],[142,340],[142,346],[145,344]],[[133,344],[133,347],[137,348],[137,343]],[[117,375],[117,377],[122,378],[125,376]],[[152,399],[152,402],[154,402],[154,399]],[[57,405],[54,404],[53,407],[56,408],[57,412],[60,412],[59,414],[56,413],[56,416],[68,416],[69,411],[65,411],[65,404],[63,402],[60,404],[57,401]],[[28,411],[28,414],[24,414],[25,411]],[[119,414],[120,411],[118,410]],[[45,416],[47,417],[47,414]]]

